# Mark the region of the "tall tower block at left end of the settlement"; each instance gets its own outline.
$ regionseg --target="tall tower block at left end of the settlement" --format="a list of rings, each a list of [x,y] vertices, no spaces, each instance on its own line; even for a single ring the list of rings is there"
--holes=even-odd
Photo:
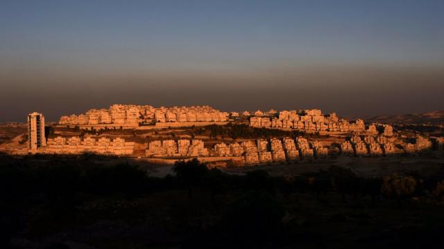
[[[44,146],[44,116],[36,112],[28,114],[28,149],[35,150]]]

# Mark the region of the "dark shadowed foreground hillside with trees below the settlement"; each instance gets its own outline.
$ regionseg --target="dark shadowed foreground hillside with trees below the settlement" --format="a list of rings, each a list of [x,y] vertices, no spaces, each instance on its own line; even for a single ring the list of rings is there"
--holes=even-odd
[[[442,248],[444,169],[289,178],[179,162],[153,178],[101,158],[0,158],[1,248]]]

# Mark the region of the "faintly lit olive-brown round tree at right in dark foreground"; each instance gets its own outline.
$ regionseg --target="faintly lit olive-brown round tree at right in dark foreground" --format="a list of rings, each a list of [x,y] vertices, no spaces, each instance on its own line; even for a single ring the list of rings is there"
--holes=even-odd
[[[416,180],[411,176],[391,175],[384,178],[382,192],[391,198],[395,198],[398,204],[416,190]]]

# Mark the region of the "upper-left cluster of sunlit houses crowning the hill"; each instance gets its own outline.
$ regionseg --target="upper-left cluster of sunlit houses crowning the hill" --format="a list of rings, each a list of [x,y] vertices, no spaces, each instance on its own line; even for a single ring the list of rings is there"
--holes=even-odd
[[[152,107],[113,104],[109,109],[90,109],[80,115],[62,116],[59,124],[79,127],[139,127],[154,122],[226,122],[229,113],[209,106]]]

